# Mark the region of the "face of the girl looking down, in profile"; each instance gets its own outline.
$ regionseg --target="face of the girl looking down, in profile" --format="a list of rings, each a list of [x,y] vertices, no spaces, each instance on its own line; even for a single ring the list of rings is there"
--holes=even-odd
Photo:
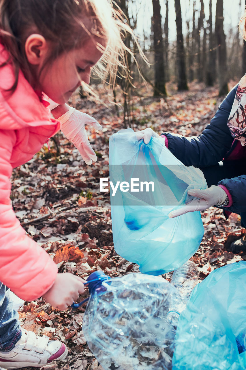
[[[91,39],[82,48],[61,54],[42,70],[40,89],[59,104],[67,102],[81,81],[89,84],[91,68],[101,56]]]

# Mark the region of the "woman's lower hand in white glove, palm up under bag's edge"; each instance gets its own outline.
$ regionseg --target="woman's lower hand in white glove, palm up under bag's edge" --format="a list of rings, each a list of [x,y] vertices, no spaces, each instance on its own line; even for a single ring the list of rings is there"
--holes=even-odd
[[[226,192],[220,186],[212,185],[211,188],[201,189],[190,189],[188,194],[197,198],[192,199],[190,203],[180,209],[176,209],[169,213],[169,218],[183,215],[187,212],[204,211],[209,207],[216,204],[222,204],[226,199]]]

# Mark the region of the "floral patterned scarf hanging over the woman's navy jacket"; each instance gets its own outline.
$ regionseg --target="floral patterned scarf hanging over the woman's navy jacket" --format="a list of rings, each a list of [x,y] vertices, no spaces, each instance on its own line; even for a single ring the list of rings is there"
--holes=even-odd
[[[227,125],[232,137],[246,145],[246,74],[241,78]]]

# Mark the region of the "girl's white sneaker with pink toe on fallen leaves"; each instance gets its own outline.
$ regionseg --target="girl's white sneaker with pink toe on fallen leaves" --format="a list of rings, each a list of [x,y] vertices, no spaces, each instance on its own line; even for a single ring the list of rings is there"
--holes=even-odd
[[[0,368],[42,367],[66,358],[68,349],[59,340],[49,340],[45,335],[40,337],[25,329],[21,330],[21,339],[15,347],[8,352],[0,351]]]

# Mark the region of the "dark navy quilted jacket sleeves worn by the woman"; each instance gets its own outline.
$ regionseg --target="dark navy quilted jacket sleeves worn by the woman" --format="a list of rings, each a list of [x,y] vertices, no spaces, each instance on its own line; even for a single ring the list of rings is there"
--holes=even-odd
[[[232,153],[233,149],[235,149],[238,142],[232,138],[227,121],[237,88],[238,85],[225,97],[221,105],[219,105],[215,116],[204,131],[202,131],[201,135],[185,138],[178,134],[164,133],[168,139],[168,149],[184,165],[192,165],[199,168],[215,165],[219,161],[222,161],[223,158],[226,159]],[[240,213],[242,226],[245,227],[246,175],[232,179],[223,179],[219,184],[224,185],[229,190],[233,200],[232,206],[224,209],[226,211]],[[243,214],[244,212],[245,214]]]

